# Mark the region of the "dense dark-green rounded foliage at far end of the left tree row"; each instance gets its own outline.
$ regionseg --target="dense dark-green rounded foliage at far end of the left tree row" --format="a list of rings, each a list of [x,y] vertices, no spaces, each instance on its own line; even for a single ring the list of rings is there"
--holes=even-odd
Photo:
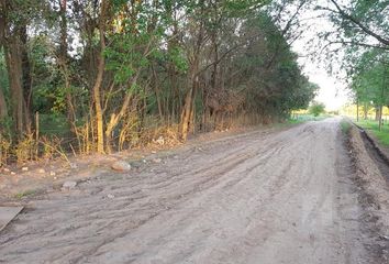
[[[251,41],[236,66],[249,73],[242,86],[251,94],[252,108],[285,117],[293,109],[307,108],[319,87],[302,75],[297,55],[271,18],[259,13],[247,20],[241,34]]]

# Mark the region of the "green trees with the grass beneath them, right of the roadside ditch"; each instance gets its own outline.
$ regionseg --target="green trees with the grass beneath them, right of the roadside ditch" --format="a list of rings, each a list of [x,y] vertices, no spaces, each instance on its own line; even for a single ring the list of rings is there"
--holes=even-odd
[[[347,10],[335,4],[338,19],[334,20],[343,29],[340,43],[347,44],[340,67],[346,70],[354,99],[344,112],[386,146],[389,145],[388,7],[387,1],[364,0],[355,1]]]

